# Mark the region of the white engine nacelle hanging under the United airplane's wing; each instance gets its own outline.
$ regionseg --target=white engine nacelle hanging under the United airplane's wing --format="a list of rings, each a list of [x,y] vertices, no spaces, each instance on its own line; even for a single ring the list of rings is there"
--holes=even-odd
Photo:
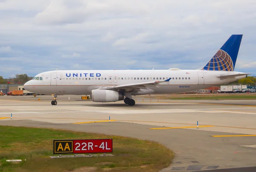
[[[93,102],[116,102],[123,100],[124,96],[118,91],[92,90]]]

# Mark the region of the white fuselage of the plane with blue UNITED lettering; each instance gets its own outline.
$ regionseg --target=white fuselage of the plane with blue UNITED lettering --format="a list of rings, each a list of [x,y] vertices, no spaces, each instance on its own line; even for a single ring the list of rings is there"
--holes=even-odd
[[[24,85],[24,88],[30,92],[41,94],[90,95],[92,90],[104,86],[164,81],[171,78],[167,84],[160,84],[157,87],[149,85],[147,86],[149,90],[132,91],[132,95],[168,94],[199,90],[246,77],[236,76],[227,79],[217,77],[235,74],[241,74],[241,72],[212,70],[54,70],[38,74],[35,77],[41,77],[41,80],[31,80]]]

